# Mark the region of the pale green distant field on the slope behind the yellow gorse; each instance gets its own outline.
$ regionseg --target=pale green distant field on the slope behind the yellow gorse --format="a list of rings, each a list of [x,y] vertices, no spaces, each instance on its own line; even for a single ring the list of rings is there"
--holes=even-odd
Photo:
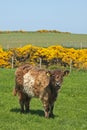
[[[41,47],[62,45],[64,47],[87,48],[87,35],[38,32],[0,33],[0,46],[4,49],[22,47],[27,44]]]

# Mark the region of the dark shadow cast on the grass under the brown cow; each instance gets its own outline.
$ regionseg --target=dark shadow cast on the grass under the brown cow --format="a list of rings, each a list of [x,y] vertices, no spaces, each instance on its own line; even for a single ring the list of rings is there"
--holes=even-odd
[[[11,110],[10,110],[10,112],[14,112],[14,113],[20,113],[20,109],[19,108],[12,108]],[[44,117],[44,111],[42,111],[42,110],[34,110],[34,109],[32,109],[32,110],[30,110],[29,112],[24,112],[23,114],[32,114],[32,115],[39,115],[39,116],[43,116]]]

